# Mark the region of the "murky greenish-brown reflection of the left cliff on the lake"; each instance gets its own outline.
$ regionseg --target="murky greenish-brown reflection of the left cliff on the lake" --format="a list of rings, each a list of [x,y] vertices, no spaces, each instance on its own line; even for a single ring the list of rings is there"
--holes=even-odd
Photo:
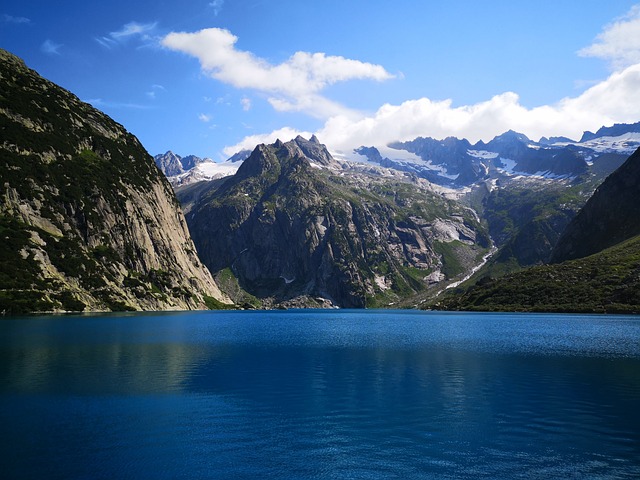
[[[3,389],[21,393],[179,392],[194,369],[218,355],[193,345],[72,345],[0,353]]]

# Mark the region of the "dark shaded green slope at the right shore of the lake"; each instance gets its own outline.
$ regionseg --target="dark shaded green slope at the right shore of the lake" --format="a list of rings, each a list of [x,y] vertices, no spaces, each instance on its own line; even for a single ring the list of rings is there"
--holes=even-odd
[[[431,307],[640,313],[639,252],[640,149],[571,220],[552,251],[554,263],[497,279],[484,276]]]

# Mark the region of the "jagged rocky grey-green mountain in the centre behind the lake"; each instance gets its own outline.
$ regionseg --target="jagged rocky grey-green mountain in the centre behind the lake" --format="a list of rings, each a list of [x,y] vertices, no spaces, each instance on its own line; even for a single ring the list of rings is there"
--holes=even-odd
[[[340,163],[315,137],[259,145],[233,177],[182,191],[203,262],[262,305],[388,305],[490,246],[471,209],[411,175]]]

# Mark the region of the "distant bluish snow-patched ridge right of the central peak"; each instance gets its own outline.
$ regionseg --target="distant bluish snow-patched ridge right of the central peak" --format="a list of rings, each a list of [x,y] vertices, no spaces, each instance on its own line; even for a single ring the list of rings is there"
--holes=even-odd
[[[603,128],[588,140],[565,137],[530,140],[512,130],[488,143],[471,145],[466,139],[418,137],[392,142],[381,154],[380,146],[362,146],[355,153],[386,168],[411,172],[438,185],[463,188],[487,180],[567,179],[611,173],[616,165],[640,146],[640,124]],[[617,136],[605,136],[617,135]],[[412,155],[407,155],[409,152]],[[600,161],[601,158],[606,161]],[[611,161],[615,157],[615,161]]]

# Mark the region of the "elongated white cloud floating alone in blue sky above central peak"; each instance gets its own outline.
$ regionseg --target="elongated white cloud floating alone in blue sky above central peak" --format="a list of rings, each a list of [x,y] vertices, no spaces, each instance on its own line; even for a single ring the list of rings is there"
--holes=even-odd
[[[380,65],[324,53],[296,52],[286,61],[272,65],[251,52],[238,50],[237,41],[238,37],[228,30],[208,28],[195,33],[170,33],[162,45],[196,57],[202,69],[216,80],[275,95],[269,102],[278,110],[304,111],[325,118],[346,110],[320,95],[329,85],[393,78]]]

